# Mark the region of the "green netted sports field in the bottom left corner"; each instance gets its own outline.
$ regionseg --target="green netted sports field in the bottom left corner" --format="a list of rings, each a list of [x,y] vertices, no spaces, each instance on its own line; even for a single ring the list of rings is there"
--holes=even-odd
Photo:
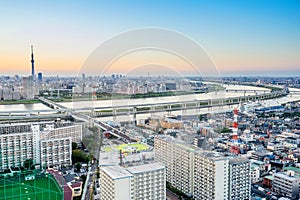
[[[50,175],[28,181],[18,180],[18,178],[1,178],[0,199],[59,200],[63,199],[63,190]]]

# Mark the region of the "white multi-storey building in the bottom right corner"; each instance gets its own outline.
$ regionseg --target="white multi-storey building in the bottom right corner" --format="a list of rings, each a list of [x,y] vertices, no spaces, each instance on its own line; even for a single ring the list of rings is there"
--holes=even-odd
[[[300,178],[293,171],[275,173],[272,189],[274,192],[290,199],[299,198]]]

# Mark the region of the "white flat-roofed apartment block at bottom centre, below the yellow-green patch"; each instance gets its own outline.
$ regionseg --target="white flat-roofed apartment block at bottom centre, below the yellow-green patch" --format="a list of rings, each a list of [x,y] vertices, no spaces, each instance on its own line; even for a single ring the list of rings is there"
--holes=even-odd
[[[100,199],[166,199],[165,167],[159,163],[100,167]]]

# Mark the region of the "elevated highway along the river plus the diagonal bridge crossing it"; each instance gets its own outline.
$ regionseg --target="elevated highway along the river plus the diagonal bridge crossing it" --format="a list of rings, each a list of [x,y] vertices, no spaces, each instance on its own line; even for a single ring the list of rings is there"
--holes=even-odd
[[[181,101],[181,102],[166,102],[158,104],[136,104],[136,105],[120,105],[115,107],[95,107],[95,108],[76,108],[70,109],[65,106],[62,106],[58,103],[55,103],[46,98],[39,98],[39,100],[52,108],[52,110],[36,110],[36,111],[0,111],[0,117],[14,117],[14,118],[24,118],[24,116],[33,116],[35,118],[43,118],[43,114],[48,113],[53,116],[57,114],[64,114],[72,116],[74,119],[85,121],[87,123],[93,123],[95,126],[101,128],[104,131],[109,131],[112,135],[126,141],[132,142],[136,141],[130,136],[129,133],[124,133],[118,129],[106,124],[105,122],[94,119],[94,117],[107,117],[113,116],[114,118],[118,115],[133,115],[134,121],[136,121],[136,115],[144,113],[157,113],[157,112],[167,112],[171,113],[172,111],[182,111],[183,113],[186,110],[195,109],[209,109],[212,107],[222,107],[222,106],[231,106],[234,104],[239,104],[248,101],[257,101],[265,100],[271,98],[277,98],[285,96],[287,93],[271,92],[257,95],[249,96],[240,96],[240,97],[231,97],[231,98],[219,98],[219,99],[207,99],[207,100],[197,100],[194,101]],[[43,113],[43,114],[41,114]]]

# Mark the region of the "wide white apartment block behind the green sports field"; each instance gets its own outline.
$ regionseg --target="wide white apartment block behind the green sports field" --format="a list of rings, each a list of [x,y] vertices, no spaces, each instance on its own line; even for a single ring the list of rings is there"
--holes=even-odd
[[[81,138],[81,125],[70,122],[1,124],[0,170],[23,166],[27,159],[42,167],[70,165],[72,141]]]

